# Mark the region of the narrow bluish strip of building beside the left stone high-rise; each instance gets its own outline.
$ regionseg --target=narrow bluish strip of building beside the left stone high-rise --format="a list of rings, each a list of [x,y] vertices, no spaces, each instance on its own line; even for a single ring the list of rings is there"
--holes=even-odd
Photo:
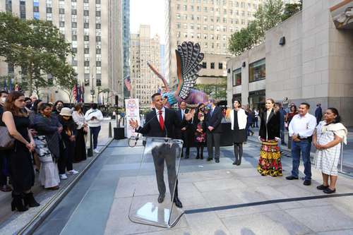
[[[123,17],[123,50],[124,50],[124,79],[130,77],[130,0],[122,0]],[[124,97],[130,97],[130,91],[124,85]]]

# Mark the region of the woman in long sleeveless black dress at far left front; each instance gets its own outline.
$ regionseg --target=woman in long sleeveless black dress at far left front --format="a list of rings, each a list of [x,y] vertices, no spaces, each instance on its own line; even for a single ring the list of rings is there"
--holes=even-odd
[[[8,151],[10,160],[10,177],[13,186],[13,200],[11,210],[28,210],[29,207],[37,207],[40,204],[35,201],[30,191],[34,182],[31,152],[35,149],[35,141],[28,127],[28,119],[25,109],[25,96],[18,91],[8,95],[4,105],[5,112],[2,121],[8,128],[8,132],[15,138],[13,150]]]

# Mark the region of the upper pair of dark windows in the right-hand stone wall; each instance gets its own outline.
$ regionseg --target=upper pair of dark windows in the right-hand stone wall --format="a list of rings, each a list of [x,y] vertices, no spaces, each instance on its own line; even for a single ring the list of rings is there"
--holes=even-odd
[[[249,64],[249,83],[263,80],[266,78],[266,60],[261,59],[259,61]],[[233,86],[241,85],[241,68],[237,68],[232,73]]]

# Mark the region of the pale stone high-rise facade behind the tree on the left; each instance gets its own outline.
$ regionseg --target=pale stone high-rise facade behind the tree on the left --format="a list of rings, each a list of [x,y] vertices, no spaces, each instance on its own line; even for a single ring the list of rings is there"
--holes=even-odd
[[[78,84],[85,85],[85,102],[112,102],[108,99],[112,94],[122,97],[121,0],[3,0],[0,10],[23,19],[51,21],[59,28],[76,53],[68,62],[78,74]],[[0,61],[0,76],[19,72],[20,68]],[[109,94],[99,92],[106,88]],[[41,95],[68,101],[55,87]]]

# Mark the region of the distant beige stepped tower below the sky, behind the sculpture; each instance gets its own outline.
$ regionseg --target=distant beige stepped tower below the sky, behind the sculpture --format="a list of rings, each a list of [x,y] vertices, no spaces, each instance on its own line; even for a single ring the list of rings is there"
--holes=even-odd
[[[160,37],[150,36],[150,25],[140,25],[138,34],[130,37],[131,97],[137,98],[140,107],[149,108],[151,96],[162,88],[162,80],[155,76],[147,63],[157,71],[160,66]]]

